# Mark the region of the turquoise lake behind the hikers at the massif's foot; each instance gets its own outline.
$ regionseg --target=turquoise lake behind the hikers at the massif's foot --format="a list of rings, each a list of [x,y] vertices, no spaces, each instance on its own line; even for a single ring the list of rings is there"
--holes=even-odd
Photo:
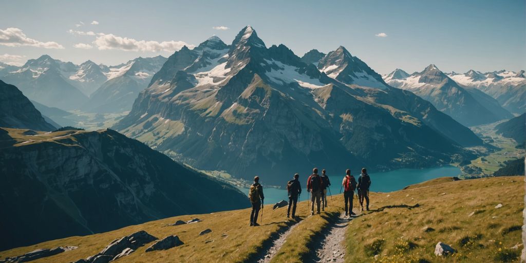
[[[460,175],[460,168],[454,166],[441,166],[434,168],[425,168],[425,169],[397,169],[392,171],[385,171],[382,173],[369,173],[371,176],[371,188],[370,191],[374,192],[391,192],[403,189],[408,185],[422,183],[433,178],[438,177],[451,177]],[[340,193],[341,181],[343,180],[343,175],[329,175],[331,182],[330,191],[332,195],[337,195]],[[358,180],[359,175],[355,176]],[[263,179],[263,178],[262,178]],[[307,200],[307,176],[300,176],[300,182],[304,189],[300,195],[300,200]],[[283,185],[286,185],[287,182],[284,181]],[[287,190],[276,189],[276,188],[265,188],[263,185],[263,193],[265,194],[265,204],[274,204],[280,200],[288,200]],[[248,195],[248,189],[240,189],[243,193]],[[329,196],[329,193],[327,193]],[[330,199],[329,199],[330,201]]]

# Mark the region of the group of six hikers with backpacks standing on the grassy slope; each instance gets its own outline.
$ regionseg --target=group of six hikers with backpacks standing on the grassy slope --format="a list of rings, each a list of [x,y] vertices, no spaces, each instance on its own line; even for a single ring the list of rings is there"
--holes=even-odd
[[[310,215],[314,215],[314,205],[316,201],[316,213],[320,214],[321,211],[325,211],[327,207],[327,190],[331,185],[329,177],[326,174],[326,170],[321,170],[321,175],[318,175],[318,168],[312,169],[312,174],[307,179],[307,191],[310,194]],[[363,210],[363,201],[366,201],[366,209],[369,210],[369,187],[371,186],[371,178],[367,174],[367,169],[362,168],[361,174],[358,177],[358,181],[354,176],[351,175],[351,170],[346,170],[346,175],[343,177],[341,182],[341,188],[343,189],[343,199],[345,200],[345,216],[350,217],[355,215],[352,211],[352,199],[354,197],[355,190],[358,190],[358,199],[360,202],[361,209]],[[287,183],[287,192],[289,197],[287,217],[291,217],[290,210],[292,208],[292,218],[296,217],[296,205],[298,203],[298,197],[301,195],[301,184],[299,182],[299,174],[295,174],[292,180]],[[341,189],[340,189],[341,192]],[[254,177],[254,184],[250,186],[248,198],[252,204],[252,211],[250,213],[250,226],[259,226],[257,223],[259,210],[263,208],[263,187],[259,184],[259,176]]]

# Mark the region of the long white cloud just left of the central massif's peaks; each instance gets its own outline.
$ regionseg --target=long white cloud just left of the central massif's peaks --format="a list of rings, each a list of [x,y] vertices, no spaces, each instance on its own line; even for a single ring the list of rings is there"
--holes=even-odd
[[[181,49],[183,46],[188,48],[195,47],[194,45],[188,45],[183,41],[137,41],[133,38],[120,37],[114,34],[97,34],[97,38],[93,42],[100,50],[105,49],[120,49],[127,51],[150,51],[150,52],[159,52],[167,51],[174,52]]]

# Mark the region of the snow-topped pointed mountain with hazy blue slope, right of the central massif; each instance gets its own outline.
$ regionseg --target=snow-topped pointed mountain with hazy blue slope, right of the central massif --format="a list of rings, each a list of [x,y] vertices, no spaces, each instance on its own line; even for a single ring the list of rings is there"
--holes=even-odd
[[[497,100],[478,89],[460,86],[433,64],[422,72],[403,77],[406,74],[397,74],[395,70],[385,76],[385,80],[391,86],[410,90],[429,100],[463,125],[488,124],[513,116]],[[393,78],[395,75],[397,78]]]

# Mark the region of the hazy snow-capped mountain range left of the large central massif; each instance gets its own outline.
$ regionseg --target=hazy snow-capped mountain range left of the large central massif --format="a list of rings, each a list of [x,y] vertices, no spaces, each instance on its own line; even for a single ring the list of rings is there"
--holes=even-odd
[[[138,57],[108,67],[91,60],[75,65],[43,55],[29,59],[22,67],[0,64],[0,79],[47,107],[124,112],[131,109],[138,93],[165,61],[162,56]]]

